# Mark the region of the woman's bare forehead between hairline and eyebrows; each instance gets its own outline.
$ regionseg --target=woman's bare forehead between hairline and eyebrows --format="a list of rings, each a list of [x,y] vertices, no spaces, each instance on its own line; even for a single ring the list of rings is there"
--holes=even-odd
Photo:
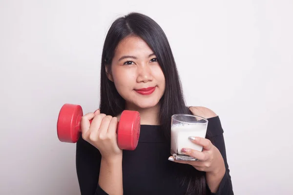
[[[120,41],[115,56],[131,55],[145,57],[152,53],[153,51],[147,45],[146,41],[137,36],[129,36]]]

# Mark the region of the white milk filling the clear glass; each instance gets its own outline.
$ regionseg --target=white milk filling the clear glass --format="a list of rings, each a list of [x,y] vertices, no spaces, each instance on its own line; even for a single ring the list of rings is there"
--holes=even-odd
[[[182,148],[191,148],[193,150],[202,151],[203,147],[191,142],[191,137],[206,137],[207,124],[176,124],[171,126],[171,150],[179,155]]]

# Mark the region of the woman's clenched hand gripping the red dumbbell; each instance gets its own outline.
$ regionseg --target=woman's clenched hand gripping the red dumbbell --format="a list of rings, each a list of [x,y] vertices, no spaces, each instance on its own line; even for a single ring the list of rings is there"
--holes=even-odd
[[[122,150],[117,144],[117,123],[117,117],[101,114],[100,109],[87,113],[81,119],[83,139],[95,146],[107,160],[122,157]]]

